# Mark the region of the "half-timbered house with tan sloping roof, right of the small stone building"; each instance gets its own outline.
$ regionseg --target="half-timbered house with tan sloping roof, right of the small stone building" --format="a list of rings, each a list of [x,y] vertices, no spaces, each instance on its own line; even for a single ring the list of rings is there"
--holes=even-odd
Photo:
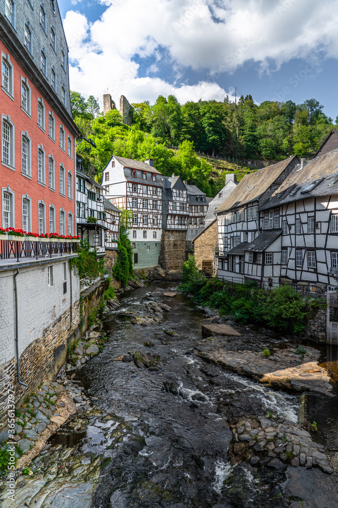
[[[245,248],[260,233],[258,208],[277,190],[299,163],[297,156],[260,169],[242,178],[230,196],[215,210],[218,221],[217,276],[244,278]],[[280,218],[273,218],[280,224]],[[259,247],[260,248],[260,247]],[[259,253],[258,258],[259,260]]]

